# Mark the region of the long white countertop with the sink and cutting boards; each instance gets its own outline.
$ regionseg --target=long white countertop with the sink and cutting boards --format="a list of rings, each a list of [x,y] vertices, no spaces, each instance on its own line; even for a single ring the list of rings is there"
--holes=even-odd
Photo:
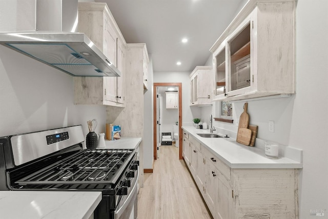
[[[273,159],[265,156],[264,148],[239,144],[233,137],[207,138],[197,135],[209,133],[209,129],[196,129],[193,126],[183,126],[182,129],[231,168],[302,168],[302,150],[299,149],[284,149],[286,152],[281,155],[279,151],[279,157]],[[224,133],[217,134],[225,136]],[[290,154],[299,154],[299,157],[292,155],[291,158]]]

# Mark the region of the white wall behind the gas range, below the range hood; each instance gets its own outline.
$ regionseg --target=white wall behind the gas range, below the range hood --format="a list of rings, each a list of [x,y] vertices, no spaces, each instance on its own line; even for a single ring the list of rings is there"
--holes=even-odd
[[[0,136],[98,121],[105,132],[106,107],[74,105],[73,76],[0,46]]]

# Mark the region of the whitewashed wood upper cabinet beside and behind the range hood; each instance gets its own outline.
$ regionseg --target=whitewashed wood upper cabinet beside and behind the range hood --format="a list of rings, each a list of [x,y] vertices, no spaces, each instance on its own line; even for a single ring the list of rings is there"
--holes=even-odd
[[[126,42],[106,3],[78,3],[85,33],[121,72],[120,77],[74,77],[74,103],[125,107]]]

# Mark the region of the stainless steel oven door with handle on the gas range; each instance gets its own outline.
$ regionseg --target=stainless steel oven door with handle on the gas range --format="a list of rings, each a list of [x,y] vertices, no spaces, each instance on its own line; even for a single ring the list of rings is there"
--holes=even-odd
[[[138,168],[139,169],[139,168]],[[137,170],[137,177],[134,181],[133,188],[128,196],[120,200],[115,210],[115,219],[136,219],[137,218],[137,196],[138,196],[138,180],[139,170]]]

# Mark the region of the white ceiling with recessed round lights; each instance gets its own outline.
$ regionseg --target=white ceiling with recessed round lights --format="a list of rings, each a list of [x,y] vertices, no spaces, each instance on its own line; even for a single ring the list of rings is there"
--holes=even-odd
[[[209,49],[247,0],[95,2],[107,3],[127,43],[146,43],[154,72],[191,72],[206,64]]]

